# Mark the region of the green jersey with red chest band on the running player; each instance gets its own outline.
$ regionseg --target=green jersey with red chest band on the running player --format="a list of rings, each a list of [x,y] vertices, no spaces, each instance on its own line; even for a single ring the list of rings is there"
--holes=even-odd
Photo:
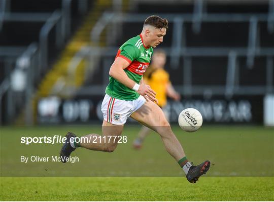
[[[129,62],[129,66],[124,71],[130,79],[139,84],[143,73],[149,66],[152,54],[153,48],[144,46],[143,38],[140,34],[125,42],[119,48],[116,58],[122,57]],[[107,86],[106,94],[120,100],[136,100],[140,96],[112,76],[110,76],[110,83]]]

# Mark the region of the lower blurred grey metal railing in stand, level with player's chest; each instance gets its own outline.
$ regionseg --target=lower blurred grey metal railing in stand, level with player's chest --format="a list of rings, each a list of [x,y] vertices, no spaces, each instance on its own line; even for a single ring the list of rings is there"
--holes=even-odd
[[[104,69],[104,82],[101,85],[97,86],[84,86],[76,95],[104,95],[106,82],[108,77],[108,70],[111,66],[109,58],[114,58],[116,56],[117,50],[119,47],[109,47],[109,48],[98,48],[91,47],[89,54],[92,58],[101,58],[104,66],[100,68]],[[170,48],[164,48],[168,57],[172,57],[172,52]],[[254,57],[265,57],[266,58],[266,85],[265,86],[239,86],[239,75],[236,73],[238,68],[241,68],[237,65],[238,57],[248,57],[248,50],[246,48],[234,48],[233,50],[227,48],[185,48],[182,49],[178,55],[179,57],[184,58],[183,64],[183,74],[184,83],[181,85],[175,86],[175,88],[185,96],[191,95],[203,95],[204,93],[209,93],[211,95],[225,95],[226,97],[231,97],[233,95],[265,95],[267,93],[274,93],[273,87],[273,58],[274,58],[274,47],[273,48],[261,48],[254,52]],[[224,86],[209,86],[209,85],[193,85],[192,78],[192,57],[206,56],[206,57],[227,57],[227,73],[225,78]],[[81,57],[78,55],[78,57]],[[83,54],[82,57],[86,57],[86,54]],[[263,68],[263,67],[262,67]],[[106,75],[105,75],[106,74]]]

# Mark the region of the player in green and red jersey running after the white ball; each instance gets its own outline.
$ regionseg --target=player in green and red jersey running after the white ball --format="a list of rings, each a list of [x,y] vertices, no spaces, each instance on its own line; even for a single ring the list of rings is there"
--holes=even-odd
[[[144,126],[160,135],[167,152],[172,155],[184,170],[187,180],[195,183],[210,167],[210,161],[205,160],[198,166],[193,166],[187,159],[184,150],[170,128],[163,111],[156,104],[155,92],[143,82],[153,48],[163,42],[168,28],[168,21],[159,16],[148,17],[142,33],[125,42],[116,55],[110,68],[110,83],[106,89],[106,96],[101,110],[104,114],[102,136],[106,141],[97,143],[76,140],[76,135],[67,133],[66,143],[63,144],[60,156],[69,157],[77,147],[91,150],[112,152],[118,144],[118,138],[110,140],[112,136],[120,136],[127,117],[132,117]],[[156,102],[156,103],[155,103]],[[99,137],[97,134],[82,136],[81,139]],[[109,141],[110,140],[110,141]]]

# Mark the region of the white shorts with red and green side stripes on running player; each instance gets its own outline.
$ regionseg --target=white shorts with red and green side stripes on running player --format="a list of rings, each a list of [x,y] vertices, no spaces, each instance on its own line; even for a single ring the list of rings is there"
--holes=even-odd
[[[146,99],[140,95],[136,100],[119,100],[108,94],[105,95],[102,101],[101,110],[104,114],[104,120],[114,125],[123,125],[134,111],[139,109]]]

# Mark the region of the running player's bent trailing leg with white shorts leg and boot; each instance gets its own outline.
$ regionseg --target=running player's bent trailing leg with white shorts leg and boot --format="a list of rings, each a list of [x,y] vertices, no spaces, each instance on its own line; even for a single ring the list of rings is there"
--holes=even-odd
[[[116,136],[121,135],[123,125],[126,123],[130,113],[130,103],[105,95],[101,110],[104,114],[102,136],[89,134],[80,138],[71,132],[67,133],[66,143],[63,144],[60,151],[61,158],[69,157],[77,147],[107,152],[114,151],[117,147],[117,142],[120,140]],[[66,160],[62,161],[63,163],[66,162]]]

